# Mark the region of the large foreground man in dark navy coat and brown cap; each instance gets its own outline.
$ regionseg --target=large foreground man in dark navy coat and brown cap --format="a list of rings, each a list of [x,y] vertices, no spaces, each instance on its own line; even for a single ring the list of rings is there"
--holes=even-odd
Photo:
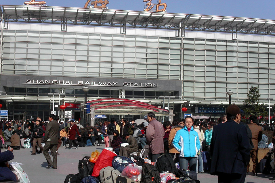
[[[245,182],[246,167],[250,161],[247,130],[237,124],[241,119],[237,105],[228,106],[226,115],[226,123],[213,128],[210,174],[217,175],[218,182]]]

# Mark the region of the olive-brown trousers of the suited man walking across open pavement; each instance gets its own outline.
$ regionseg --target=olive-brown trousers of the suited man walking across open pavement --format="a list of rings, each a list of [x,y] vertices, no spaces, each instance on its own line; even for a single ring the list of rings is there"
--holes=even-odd
[[[44,146],[43,155],[45,156],[48,165],[53,165],[54,168],[57,168],[57,155],[56,155],[57,144],[51,144],[51,142],[46,141]],[[51,150],[51,155],[53,156],[53,161],[49,155],[49,150]]]

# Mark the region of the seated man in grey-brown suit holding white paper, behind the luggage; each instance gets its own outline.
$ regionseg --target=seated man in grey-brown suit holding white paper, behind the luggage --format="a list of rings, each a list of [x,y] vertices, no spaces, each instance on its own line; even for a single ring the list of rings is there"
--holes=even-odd
[[[119,156],[129,157],[131,153],[136,153],[138,150],[137,140],[129,133],[124,134],[124,136],[129,145],[120,148]]]

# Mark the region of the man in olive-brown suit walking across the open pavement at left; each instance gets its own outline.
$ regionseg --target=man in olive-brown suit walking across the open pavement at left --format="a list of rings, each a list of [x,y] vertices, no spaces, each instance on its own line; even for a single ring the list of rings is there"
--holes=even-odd
[[[59,132],[59,124],[55,120],[56,115],[50,114],[49,115],[49,123],[47,124],[46,131],[45,131],[45,146],[43,154],[47,160],[48,166],[47,168],[54,168],[57,169],[57,155],[56,149],[58,145],[58,134]],[[51,161],[51,157],[49,156],[49,149],[51,149],[51,155],[53,156],[53,161]]]

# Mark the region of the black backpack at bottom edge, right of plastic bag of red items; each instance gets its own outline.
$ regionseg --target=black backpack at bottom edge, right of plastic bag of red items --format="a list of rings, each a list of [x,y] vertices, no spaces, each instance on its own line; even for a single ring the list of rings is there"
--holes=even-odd
[[[149,163],[142,165],[141,183],[161,183],[159,171]]]

